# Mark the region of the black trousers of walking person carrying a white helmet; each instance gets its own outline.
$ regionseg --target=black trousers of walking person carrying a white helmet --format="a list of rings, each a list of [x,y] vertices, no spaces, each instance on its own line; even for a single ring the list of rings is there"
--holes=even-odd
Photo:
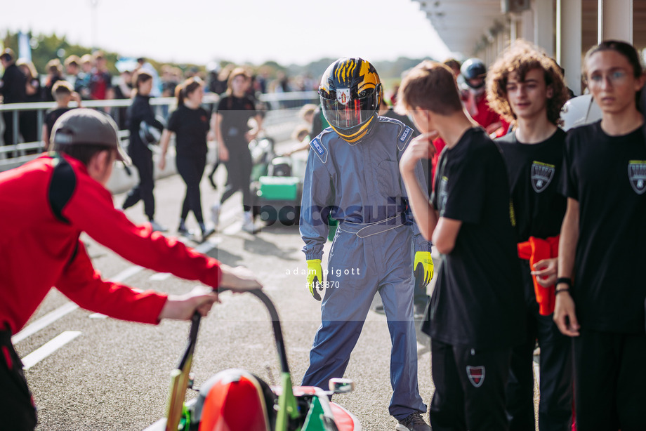
[[[144,213],[149,220],[152,220],[154,218],[152,152],[140,142],[131,142],[131,145],[128,146],[128,154],[130,154],[132,163],[139,172],[139,183],[128,192],[122,208],[130,208],[137,204],[138,201],[143,201]]]

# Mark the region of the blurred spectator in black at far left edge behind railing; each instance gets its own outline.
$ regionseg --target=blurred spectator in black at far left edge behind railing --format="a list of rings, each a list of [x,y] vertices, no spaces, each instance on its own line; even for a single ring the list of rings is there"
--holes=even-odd
[[[0,81],[0,95],[2,95],[3,103],[7,105],[9,103],[25,102],[27,98],[25,93],[27,77],[15,65],[15,54],[11,48],[6,48],[2,51],[0,62],[4,67],[4,74],[2,75],[2,81]],[[4,145],[18,143],[20,133],[18,133],[18,130],[14,131],[13,112],[2,112],[2,118],[4,119]],[[20,122],[20,114],[18,114],[18,121]]]

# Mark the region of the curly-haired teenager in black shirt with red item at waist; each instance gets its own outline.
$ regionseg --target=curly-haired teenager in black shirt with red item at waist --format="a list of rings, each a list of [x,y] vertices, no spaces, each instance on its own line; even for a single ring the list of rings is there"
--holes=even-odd
[[[535,426],[532,357],[538,338],[539,429],[567,430],[572,427],[572,343],[552,319],[565,215],[565,197],[558,191],[565,132],[558,124],[567,88],[558,65],[527,41],[504,51],[487,78],[489,106],[514,126],[496,142],[507,164],[526,301],[527,338],[514,347],[507,383],[509,429]],[[532,270],[538,275],[532,277]]]

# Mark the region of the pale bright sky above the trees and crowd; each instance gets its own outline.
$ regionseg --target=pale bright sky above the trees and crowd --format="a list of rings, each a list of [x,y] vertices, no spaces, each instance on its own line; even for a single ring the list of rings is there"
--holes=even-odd
[[[412,0],[8,1],[0,14],[3,36],[7,29],[55,32],[85,46],[95,38],[108,51],[162,62],[302,65],[345,55],[371,61],[450,55]]]

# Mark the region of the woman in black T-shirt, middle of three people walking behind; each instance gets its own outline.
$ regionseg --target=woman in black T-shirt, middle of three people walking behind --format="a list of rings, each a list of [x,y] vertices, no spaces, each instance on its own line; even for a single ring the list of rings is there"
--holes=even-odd
[[[199,78],[189,78],[182,85],[175,88],[177,96],[177,110],[171,114],[169,125],[162,133],[159,145],[162,147],[162,157],[159,160],[159,169],[166,167],[166,152],[169,149],[171,134],[176,134],[176,164],[177,171],[186,184],[186,194],[182,204],[180,225],[177,231],[180,234],[189,234],[186,227],[186,218],[189,211],[195,215],[195,220],[202,232],[201,240],[205,241],[215,232],[204,225],[202,215],[202,196],[199,192],[199,183],[204,175],[206,166],[206,133],[209,133],[209,114],[204,110],[204,86]]]

